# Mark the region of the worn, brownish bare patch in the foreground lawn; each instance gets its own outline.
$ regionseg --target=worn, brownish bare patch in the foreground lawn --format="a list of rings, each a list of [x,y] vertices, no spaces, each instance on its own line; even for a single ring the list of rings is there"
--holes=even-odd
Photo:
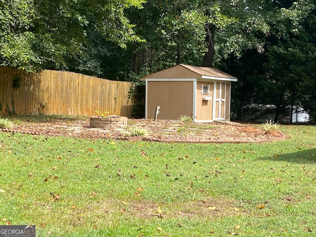
[[[201,200],[182,200],[170,203],[154,202],[142,198],[131,201],[107,199],[89,204],[83,209],[73,209],[69,219],[72,220],[71,225],[82,225],[81,221],[87,216],[112,215],[112,213],[142,219],[207,218],[211,220],[225,216],[248,215],[249,210],[243,209],[236,199],[229,197],[206,197]]]

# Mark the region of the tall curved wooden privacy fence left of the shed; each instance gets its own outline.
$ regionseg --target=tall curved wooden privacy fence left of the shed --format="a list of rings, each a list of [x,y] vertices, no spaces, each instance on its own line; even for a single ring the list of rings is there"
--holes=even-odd
[[[132,82],[112,81],[65,71],[25,73],[0,67],[0,115],[97,116],[95,111],[130,118]]]

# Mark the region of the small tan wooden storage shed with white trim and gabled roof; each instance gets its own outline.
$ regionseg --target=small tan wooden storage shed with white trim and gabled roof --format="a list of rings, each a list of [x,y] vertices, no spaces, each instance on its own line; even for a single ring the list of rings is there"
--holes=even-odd
[[[231,82],[237,78],[214,68],[178,64],[147,75],[145,118],[177,120],[187,115],[195,122],[230,119]]]

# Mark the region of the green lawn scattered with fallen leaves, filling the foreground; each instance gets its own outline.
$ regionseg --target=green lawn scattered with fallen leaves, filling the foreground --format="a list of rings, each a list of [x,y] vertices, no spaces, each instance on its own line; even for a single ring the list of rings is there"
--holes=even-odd
[[[0,225],[38,237],[316,235],[316,126],[264,144],[0,133]]]

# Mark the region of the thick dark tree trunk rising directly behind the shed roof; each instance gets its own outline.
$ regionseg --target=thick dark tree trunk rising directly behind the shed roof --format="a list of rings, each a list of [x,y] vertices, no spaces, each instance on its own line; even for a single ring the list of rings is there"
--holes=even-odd
[[[202,66],[212,68],[214,54],[215,54],[215,48],[214,48],[215,25],[211,24],[211,23],[206,23],[205,24],[205,31],[206,31],[205,40],[208,43],[208,50],[204,54]]]

